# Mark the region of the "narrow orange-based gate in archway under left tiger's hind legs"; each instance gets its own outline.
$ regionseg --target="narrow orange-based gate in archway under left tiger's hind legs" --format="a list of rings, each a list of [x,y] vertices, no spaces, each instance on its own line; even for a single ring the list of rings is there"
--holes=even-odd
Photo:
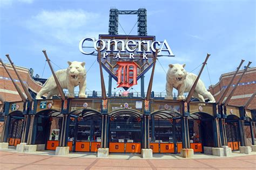
[[[56,150],[59,146],[59,139],[62,129],[63,117],[50,117],[49,118],[49,130],[47,134],[47,150]]]

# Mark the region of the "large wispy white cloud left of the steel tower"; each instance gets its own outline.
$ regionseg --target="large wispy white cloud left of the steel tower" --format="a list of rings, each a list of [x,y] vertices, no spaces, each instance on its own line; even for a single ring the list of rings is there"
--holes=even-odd
[[[98,37],[99,33],[105,32],[100,20],[102,17],[98,13],[84,10],[43,10],[27,20],[26,27],[42,38],[77,44],[84,36]]]

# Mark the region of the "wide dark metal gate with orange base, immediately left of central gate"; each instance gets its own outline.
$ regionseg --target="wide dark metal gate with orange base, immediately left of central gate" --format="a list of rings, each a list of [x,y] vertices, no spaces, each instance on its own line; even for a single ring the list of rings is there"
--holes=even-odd
[[[102,140],[102,118],[98,115],[72,117],[68,145],[76,152],[97,152]]]

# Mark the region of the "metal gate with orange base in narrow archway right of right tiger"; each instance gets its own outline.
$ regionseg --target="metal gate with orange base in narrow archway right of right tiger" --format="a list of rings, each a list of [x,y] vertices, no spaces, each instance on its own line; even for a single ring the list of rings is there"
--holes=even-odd
[[[227,145],[231,150],[239,150],[240,146],[240,133],[238,122],[226,122]]]

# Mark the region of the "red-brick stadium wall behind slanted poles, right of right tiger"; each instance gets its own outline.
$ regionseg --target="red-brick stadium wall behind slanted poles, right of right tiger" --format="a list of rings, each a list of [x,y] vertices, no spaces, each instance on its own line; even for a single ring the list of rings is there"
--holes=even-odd
[[[238,72],[237,76],[235,76],[235,79],[232,85],[238,82],[238,79],[240,78],[242,72],[243,70],[240,70]],[[227,87],[228,84],[230,83],[234,73],[235,72],[222,74],[219,79],[220,81],[214,86],[209,87],[209,91],[213,94],[216,101],[219,101],[221,94],[226,89],[225,87]],[[231,87],[228,90],[228,93],[226,96],[230,94],[232,89],[233,87]],[[240,81],[239,86],[234,91],[234,94],[232,95],[232,98],[228,104],[235,105],[235,106],[244,105],[255,91],[256,91],[256,67],[253,67],[253,68],[249,68],[245,73],[245,75],[242,77],[242,80]],[[254,100],[251,102],[248,108],[256,109],[256,97],[254,97]]]

